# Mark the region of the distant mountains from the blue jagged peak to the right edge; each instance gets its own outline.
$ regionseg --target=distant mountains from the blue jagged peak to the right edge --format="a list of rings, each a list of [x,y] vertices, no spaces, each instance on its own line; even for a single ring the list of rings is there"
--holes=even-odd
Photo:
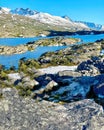
[[[101,24],[95,24],[92,22],[83,22],[83,21],[72,21],[68,16],[52,16],[48,13],[42,13],[42,12],[37,12],[37,11],[32,11],[29,8],[23,9],[23,8],[16,8],[15,10],[10,11],[12,14],[18,14],[18,15],[24,15],[28,16],[30,18],[39,20],[40,22],[43,23],[48,23],[48,24],[56,24],[56,25],[63,25],[65,26],[71,25],[72,27],[82,27],[85,29],[92,29],[92,30],[102,30],[104,27]],[[61,23],[62,24],[61,24]]]

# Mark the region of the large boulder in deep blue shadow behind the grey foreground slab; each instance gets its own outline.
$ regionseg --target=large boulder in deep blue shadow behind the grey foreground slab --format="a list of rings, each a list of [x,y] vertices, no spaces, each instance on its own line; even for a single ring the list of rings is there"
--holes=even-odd
[[[70,102],[84,99],[87,97],[91,86],[94,84],[95,78],[82,76],[79,78],[63,79],[62,82],[63,81],[65,81],[65,84],[60,86],[60,83],[58,83],[58,89],[52,91],[51,94],[49,93],[49,98],[47,98],[47,100]]]

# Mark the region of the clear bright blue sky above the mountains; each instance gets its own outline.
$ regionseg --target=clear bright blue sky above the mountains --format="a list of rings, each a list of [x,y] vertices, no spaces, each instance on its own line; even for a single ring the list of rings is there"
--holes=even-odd
[[[104,25],[104,0],[0,0],[0,7],[30,8],[57,16],[69,16],[75,21]]]

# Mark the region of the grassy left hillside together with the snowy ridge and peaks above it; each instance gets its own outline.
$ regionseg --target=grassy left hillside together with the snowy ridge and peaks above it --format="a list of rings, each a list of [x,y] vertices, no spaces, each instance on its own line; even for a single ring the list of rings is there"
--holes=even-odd
[[[22,8],[16,11],[0,8],[0,37],[34,37],[41,34],[48,35],[51,31],[88,30],[84,24],[59,16]]]

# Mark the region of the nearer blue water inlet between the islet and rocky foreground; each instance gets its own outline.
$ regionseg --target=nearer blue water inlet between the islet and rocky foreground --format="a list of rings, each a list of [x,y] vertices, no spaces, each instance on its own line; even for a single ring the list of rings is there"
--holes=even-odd
[[[10,66],[18,68],[19,60],[23,57],[26,57],[27,59],[37,59],[47,51],[56,51],[63,48],[66,48],[66,46],[37,47],[34,51],[27,51],[23,54],[0,55],[0,64],[5,65],[6,68],[9,68]]]

